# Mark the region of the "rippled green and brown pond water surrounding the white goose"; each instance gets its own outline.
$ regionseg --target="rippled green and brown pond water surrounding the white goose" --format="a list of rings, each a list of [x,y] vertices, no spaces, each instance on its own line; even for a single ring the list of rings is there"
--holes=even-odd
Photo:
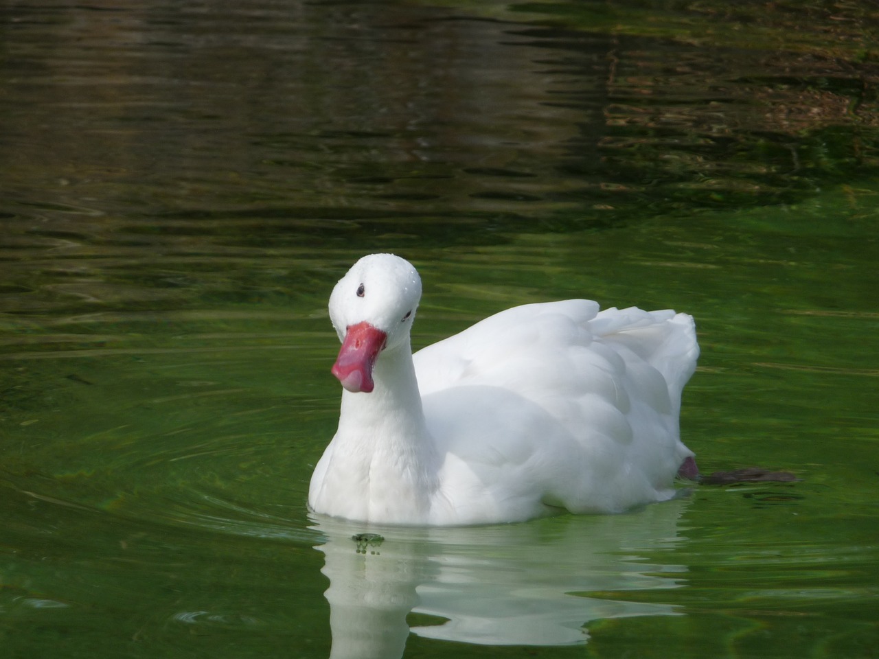
[[[5,4],[4,656],[879,655],[877,17],[679,5]],[[703,471],[801,480],[311,516],[326,301],[376,250],[418,346],[693,314]]]

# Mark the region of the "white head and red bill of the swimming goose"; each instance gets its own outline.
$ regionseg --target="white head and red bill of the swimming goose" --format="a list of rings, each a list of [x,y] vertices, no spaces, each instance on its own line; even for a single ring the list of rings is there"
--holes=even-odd
[[[409,350],[409,331],[421,278],[408,261],[371,254],[353,264],[330,296],[330,319],[342,348],[332,373],[348,391],[374,388],[373,366],[382,351]]]

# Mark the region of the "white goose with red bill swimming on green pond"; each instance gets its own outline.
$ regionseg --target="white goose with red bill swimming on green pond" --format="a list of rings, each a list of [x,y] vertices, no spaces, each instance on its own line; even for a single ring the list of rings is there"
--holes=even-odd
[[[342,341],[338,431],[309,487],[317,513],[467,525],[619,512],[698,474],[679,439],[699,346],[671,310],[568,300],[492,315],[412,355],[412,265],[363,257],[330,316]]]

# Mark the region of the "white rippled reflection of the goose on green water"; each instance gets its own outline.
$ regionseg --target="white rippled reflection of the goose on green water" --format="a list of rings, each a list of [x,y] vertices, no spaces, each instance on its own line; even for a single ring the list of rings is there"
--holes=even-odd
[[[330,579],[333,659],[403,655],[410,633],[478,645],[586,643],[597,619],[680,615],[599,592],[679,587],[686,566],[647,562],[682,540],[686,500],[627,515],[407,529],[317,518]],[[416,614],[410,626],[407,616]]]

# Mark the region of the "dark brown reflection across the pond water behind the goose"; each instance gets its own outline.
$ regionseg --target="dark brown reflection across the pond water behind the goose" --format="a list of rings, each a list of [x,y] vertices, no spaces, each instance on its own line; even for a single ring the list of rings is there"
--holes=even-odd
[[[336,250],[776,203],[879,153],[875,64],[829,54],[381,2],[5,12],[16,314],[222,303],[324,279]]]

